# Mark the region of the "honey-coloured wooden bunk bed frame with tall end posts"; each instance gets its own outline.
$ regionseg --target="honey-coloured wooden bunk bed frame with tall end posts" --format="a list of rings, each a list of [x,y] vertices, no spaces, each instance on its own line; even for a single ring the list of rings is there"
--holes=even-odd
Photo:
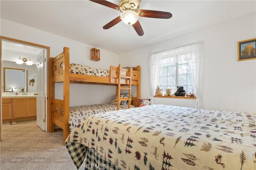
[[[62,53],[54,58],[50,58],[50,132],[55,131],[55,125],[63,129],[63,143],[70,134],[68,123],[70,114],[70,83],[118,86],[117,94],[120,94],[121,89],[127,89],[120,88],[120,86],[137,86],[137,95],[136,97],[132,98],[132,103],[134,104],[134,106],[137,107],[137,99],[140,99],[140,66],[134,67],[132,72],[129,72],[130,69],[121,68],[120,64],[118,67],[110,66],[109,77],[72,74],[69,71],[69,57],[69,48],[64,47]],[[126,75],[129,75],[130,79],[127,78],[128,76]],[[55,83],[63,83],[63,100],[55,99]],[[128,90],[130,94],[130,89]],[[126,98],[126,100],[130,100],[130,98]],[[122,99],[118,98],[118,101],[122,101]]]

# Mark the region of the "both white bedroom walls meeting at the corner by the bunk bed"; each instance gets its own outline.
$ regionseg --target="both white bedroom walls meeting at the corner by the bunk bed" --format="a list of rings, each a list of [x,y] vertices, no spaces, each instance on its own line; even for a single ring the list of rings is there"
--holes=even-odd
[[[255,13],[124,53],[120,55],[120,59],[115,53],[101,50],[100,61],[90,60],[92,46],[8,20],[1,19],[0,23],[2,36],[49,46],[51,57],[58,55],[64,46],[70,47],[70,63],[106,69],[109,65],[119,63],[126,66],[140,65],[141,98],[150,97],[148,68],[150,53],[203,41],[205,55],[202,102],[204,108],[256,112],[256,60],[237,61],[237,42],[256,37]],[[56,84],[56,94],[57,97],[61,97],[61,84]],[[116,94],[114,86],[72,84],[70,106],[108,103],[114,94]],[[84,96],[85,99],[83,100],[80,96]],[[158,103],[193,107],[194,104],[191,101],[156,99]]]

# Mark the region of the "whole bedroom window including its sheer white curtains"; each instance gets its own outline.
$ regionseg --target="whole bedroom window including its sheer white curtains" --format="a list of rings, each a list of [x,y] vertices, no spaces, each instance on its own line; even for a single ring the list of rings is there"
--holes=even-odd
[[[172,88],[172,92],[176,92],[177,86],[183,86],[187,93],[194,92],[196,108],[202,108],[200,93],[202,46],[202,42],[196,42],[151,54],[149,61],[151,96],[154,96],[158,84],[161,84],[163,89]]]

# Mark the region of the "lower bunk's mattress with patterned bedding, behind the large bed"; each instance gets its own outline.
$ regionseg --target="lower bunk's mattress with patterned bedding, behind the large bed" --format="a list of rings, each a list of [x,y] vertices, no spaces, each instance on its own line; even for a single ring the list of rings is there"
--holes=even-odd
[[[134,106],[131,105],[131,108]],[[94,105],[85,105],[85,106],[71,106],[69,108],[70,116],[68,119],[70,132],[85,120],[88,116],[94,115],[97,113],[105,113],[107,111],[114,111],[117,109],[115,104],[94,104]],[[128,104],[120,105],[120,109],[128,109]]]

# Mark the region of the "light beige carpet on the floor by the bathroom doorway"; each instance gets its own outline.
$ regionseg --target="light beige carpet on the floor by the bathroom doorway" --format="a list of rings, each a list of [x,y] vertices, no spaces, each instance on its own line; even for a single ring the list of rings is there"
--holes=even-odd
[[[76,170],[63,145],[62,131],[47,133],[36,122],[3,123],[2,128],[0,170]]]

